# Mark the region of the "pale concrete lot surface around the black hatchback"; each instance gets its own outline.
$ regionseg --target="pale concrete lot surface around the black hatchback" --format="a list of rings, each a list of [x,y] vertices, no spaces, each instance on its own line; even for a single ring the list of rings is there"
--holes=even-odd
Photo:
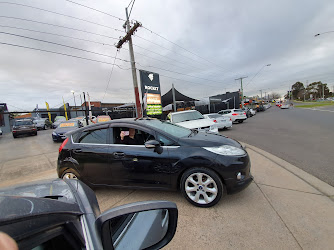
[[[0,187],[57,177],[60,143],[51,133],[0,138]],[[97,188],[100,209],[143,200],[175,202],[178,229],[166,249],[332,248],[334,188],[255,147],[247,151],[255,181],[214,207],[192,206],[177,192]]]

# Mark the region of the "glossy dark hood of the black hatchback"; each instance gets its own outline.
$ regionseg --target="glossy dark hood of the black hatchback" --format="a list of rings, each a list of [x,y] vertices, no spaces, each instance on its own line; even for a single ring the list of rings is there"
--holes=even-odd
[[[224,135],[211,132],[198,132],[197,134],[193,133],[190,137],[180,138],[179,143],[181,145],[187,146],[217,147],[221,145],[230,145],[237,148],[242,148],[238,141],[230,139]]]

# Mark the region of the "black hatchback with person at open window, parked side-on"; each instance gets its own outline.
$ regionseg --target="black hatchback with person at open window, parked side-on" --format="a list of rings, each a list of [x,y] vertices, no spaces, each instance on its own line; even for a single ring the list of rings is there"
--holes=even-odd
[[[157,119],[120,119],[66,134],[58,176],[90,186],[181,190],[195,206],[252,181],[250,159],[235,140]]]

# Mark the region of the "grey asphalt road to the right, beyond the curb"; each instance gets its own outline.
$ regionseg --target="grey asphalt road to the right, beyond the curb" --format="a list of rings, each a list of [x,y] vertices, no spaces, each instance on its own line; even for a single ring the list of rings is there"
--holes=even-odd
[[[334,186],[334,106],[259,112],[224,135],[254,145]]]

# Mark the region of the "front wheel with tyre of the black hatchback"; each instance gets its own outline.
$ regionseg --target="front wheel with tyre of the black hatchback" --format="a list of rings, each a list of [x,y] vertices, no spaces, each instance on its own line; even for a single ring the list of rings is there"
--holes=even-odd
[[[191,204],[197,207],[212,207],[220,201],[224,185],[214,171],[199,167],[191,168],[182,175],[180,189]]]

